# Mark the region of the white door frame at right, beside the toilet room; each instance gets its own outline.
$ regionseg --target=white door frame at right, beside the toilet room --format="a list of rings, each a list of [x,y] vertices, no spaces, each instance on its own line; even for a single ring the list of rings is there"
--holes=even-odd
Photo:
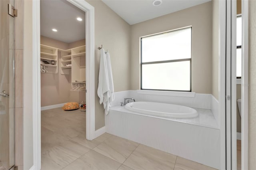
[[[230,44],[231,53],[236,54],[236,1],[231,1],[231,10],[232,15],[230,18],[231,21],[231,28],[232,30],[232,39]],[[242,101],[242,108],[241,108],[241,169],[247,170],[248,169],[248,0],[242,0],[242,81],[241,81],[241,101]],[[228,42],[227,42],[228,43]],[[234,55],[233,55],[234,57]],[[232,61],[231,59],[231,75],[236,75],[236,61]],[[229,119],[230,124],[227,124],[226,132],[227,132],[227,156],[229,157],[228,160],[231,162],[227,162],[227,169],[234,169],[237,168],[237,158],[236,158],[236,80],[235,76],[232,76],[232,83],[230,85],[232,92],[232,103],[230,105],[231,108],[231,115],[227,117]],[[231,140],[231,141],[230,141]],[[230,149],[229,149],[230,148]],[[231,164],[230,164],[231,163]]]

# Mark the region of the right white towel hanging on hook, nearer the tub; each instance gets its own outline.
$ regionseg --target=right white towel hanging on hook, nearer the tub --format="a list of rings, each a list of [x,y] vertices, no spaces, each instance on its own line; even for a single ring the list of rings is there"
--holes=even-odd
[[[109,82],[109,89],[110,89],[110,97],[108,100],[106,100],[106,108],[105,108],[105,114],[108,115],[108,110],[111,107],[111,102],[114,101],[114,99],[115,99],[112,67],[111,67],[109,53],[106,54],[106,66],[107,66],[107,70],[108,70],[108,82]]]

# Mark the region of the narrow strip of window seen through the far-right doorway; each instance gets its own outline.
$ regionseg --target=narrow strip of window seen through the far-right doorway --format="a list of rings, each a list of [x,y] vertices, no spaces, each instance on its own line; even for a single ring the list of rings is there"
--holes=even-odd
[[[242,16],[236,18],[236,78],[242,76]]]

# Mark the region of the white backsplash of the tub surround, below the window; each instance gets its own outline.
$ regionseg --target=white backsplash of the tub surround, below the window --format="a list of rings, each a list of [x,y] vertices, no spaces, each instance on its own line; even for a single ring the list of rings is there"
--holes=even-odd
[[[112,106],[120,105],[120,102],[123,102],[124,98],[127,97],[133,97],[136,101],[169,103],[198,109],[208,109],[219,126],[218,100],[211,94],[149,90],[120,91],[115,93],[115,100],[112,102]]]

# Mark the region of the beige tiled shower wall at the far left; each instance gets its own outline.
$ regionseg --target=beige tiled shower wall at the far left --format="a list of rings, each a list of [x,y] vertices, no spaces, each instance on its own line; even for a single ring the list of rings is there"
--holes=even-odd
[[[8,4],[18,9],[18,16],[12,18],[8,15]],[[15,162],[18,170],[23,169],[23,23],[24,23],[24,0],[0,0],[0,45],[1,63],[0,91],[6,90],[10,97],[1,98],[1,145],[0,153],[3,166],[9,169],[12,166],[8,162]],[[13,24],[14,22],[14,24]],[[13,28],[14,26],[14,28]],[[14,32],[13,32],[14,29]],[[13,43],[14,40],[14,43]],[[8,46],[7,46],[8,45]],[[9,50],[8,50],[9,49]],[[13,55],[15,53],[15,55]],[[7,57],[9,56],[9,57]],[[15,65],[14,83],[13,56]],[[5,67],[9,64],[9,67]],[[5,73],[4,73],[5,72]],[[3,74],[4,73],[4,74]],[[15,86],[15,87],[13,87]],[[13,95],[14,91],[15,95]],[[14,97],[14,99],[13,99]],[[13,103],[14,101],[14,103]],[[8,103],[9,102],[9,103]],[[9,105],[10,108],[3,108]],[[14,112],[15,111],[15,112]],[[3,114],[2,114],[3,113]],[[15,114],[15,116],[14,116]],[[13,118],[14,117],[14,118]],[[14,120],[14,121],[13,121]],[[14,134],[13,134],[14,128]],[[15,136],[15,140],[14,140]],[[13,142],[15,147],[13,148]],[[9,152],[14,149],[15,155]],[[11,154],[10,154],[11,153]]]

